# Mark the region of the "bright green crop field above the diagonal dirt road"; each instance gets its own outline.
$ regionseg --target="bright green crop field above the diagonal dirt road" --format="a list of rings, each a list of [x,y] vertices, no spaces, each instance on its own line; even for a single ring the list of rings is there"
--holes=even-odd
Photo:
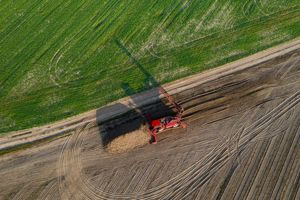
[[[300,36],[300,1],[0,0],[0,133]]]

